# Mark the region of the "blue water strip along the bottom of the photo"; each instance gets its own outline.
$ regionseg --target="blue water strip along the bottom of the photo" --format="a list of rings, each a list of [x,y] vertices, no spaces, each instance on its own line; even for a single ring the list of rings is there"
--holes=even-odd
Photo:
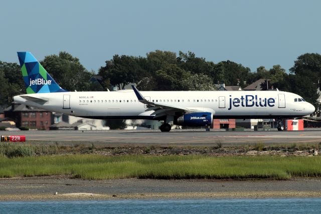
[[[9,201],[0,213],[320,213],[321,198]]]

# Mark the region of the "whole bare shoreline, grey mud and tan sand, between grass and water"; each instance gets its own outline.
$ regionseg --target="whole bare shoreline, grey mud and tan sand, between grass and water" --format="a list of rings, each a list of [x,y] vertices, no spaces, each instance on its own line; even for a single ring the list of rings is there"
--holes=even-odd
[[[266,197],[321,197],[321,179],[82,180],[68,175],[0,179],[0,201]]]

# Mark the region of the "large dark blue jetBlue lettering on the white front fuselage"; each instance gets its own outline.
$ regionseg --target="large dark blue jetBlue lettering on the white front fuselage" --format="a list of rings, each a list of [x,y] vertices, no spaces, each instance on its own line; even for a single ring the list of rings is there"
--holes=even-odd
[[[234,107],[273,107],[275,103],[274,98],[258,98],[257,95],[245,95],[241,96],[240,98],[234,98],[232,99],[232,96],[230,95],[230,107],[228,110],[232,109],[232,106]]]

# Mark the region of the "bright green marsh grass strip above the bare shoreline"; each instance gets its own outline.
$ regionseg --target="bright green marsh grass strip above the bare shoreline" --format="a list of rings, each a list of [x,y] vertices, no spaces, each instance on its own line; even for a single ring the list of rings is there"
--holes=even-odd
[[[321,176],[321,157],[91,154],[0,156],[0,177],[70,174],[83,179],[272,178]]]

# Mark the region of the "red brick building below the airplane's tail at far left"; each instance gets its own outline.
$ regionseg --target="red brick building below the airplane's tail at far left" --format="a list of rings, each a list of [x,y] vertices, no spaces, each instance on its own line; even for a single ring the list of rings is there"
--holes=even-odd
[[[5,117],[12,118],[16,126],[30,129],[49,130],[51,126],[52,112],[43,109],[12,103],[5,109]]]

